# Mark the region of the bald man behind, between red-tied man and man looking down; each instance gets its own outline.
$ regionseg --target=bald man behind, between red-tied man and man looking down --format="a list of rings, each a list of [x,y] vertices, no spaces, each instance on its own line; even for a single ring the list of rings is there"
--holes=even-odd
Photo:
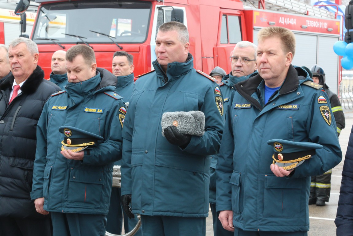
[[[65,69],[66,52],[59,50],[53,53],[52,56],[52,73],[50,73],[50,81],[58,85],[64,90],[64,85],[67,85],[67,74]]]

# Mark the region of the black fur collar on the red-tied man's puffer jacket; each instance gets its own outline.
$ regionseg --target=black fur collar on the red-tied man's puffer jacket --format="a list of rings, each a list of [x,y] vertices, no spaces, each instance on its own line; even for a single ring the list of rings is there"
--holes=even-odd
[[[0,90],[11,90],[14,79],[15,78],[12,75],[12,72],[6,75],[4,80],[1,81]],[[41,84],[41,82],[43,81],[43,79],[44,79],[44,71],[39,65],[37,65],[37,68],[33,71],[33,73],[28,77],[26,82],[24,82],[24,84],[22,85],[21,87],[22,93],[24,94],[34,93],[39,87],[39,85]]]

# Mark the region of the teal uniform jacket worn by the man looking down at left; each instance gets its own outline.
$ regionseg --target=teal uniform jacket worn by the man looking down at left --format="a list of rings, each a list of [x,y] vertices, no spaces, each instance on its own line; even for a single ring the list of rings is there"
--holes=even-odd
[[[113,162],[121,158],[122,149],[125,114],[119,110],[125,111],[125,105],[114,86],[102,87],[116,77],[107,71],[102,79],[100,75],[97,72],[89,80],[69,83],[44,105],[37,126],[31,198],[44,197],[47,211],[108,213]],[[64,125],[95,133],[104,140],[85,149],[83,161],[68,160],[60,154],[64,134],[58,128]]]

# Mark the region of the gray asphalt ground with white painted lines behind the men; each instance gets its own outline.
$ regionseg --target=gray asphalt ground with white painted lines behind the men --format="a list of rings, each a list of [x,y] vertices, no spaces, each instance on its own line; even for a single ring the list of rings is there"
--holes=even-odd
[[[346,155],[349,134],[353,125],[353,111],[344,110],[346,117],[346,128],[340,134],[340,145],[342,149],[342,161],[332,169],[330,200],[324,207],[316,205],[309,206],[310,230],[308,236],[335,236],[336,235],[336,211],[342,179],[342,167]],[[206,218],[206,236],[213,236],[212,213]]]

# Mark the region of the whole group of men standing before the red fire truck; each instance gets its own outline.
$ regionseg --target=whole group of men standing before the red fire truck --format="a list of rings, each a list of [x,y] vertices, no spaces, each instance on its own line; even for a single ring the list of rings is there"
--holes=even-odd
[[[307,235],[308,203],[329,197],[310,185],[328,189],[319,176],[342,159],[343,111],[322,68],[291,64],[290,30],[257,38],[209,76],[185,25],[162,24],[136,82],[124,51],[112,73],[86,45],[56,51],[47,81],[33,41],[1,46],[0,235],[121,234],[140,214],[136,235],[202,236],[209,203],[217,236]]]

